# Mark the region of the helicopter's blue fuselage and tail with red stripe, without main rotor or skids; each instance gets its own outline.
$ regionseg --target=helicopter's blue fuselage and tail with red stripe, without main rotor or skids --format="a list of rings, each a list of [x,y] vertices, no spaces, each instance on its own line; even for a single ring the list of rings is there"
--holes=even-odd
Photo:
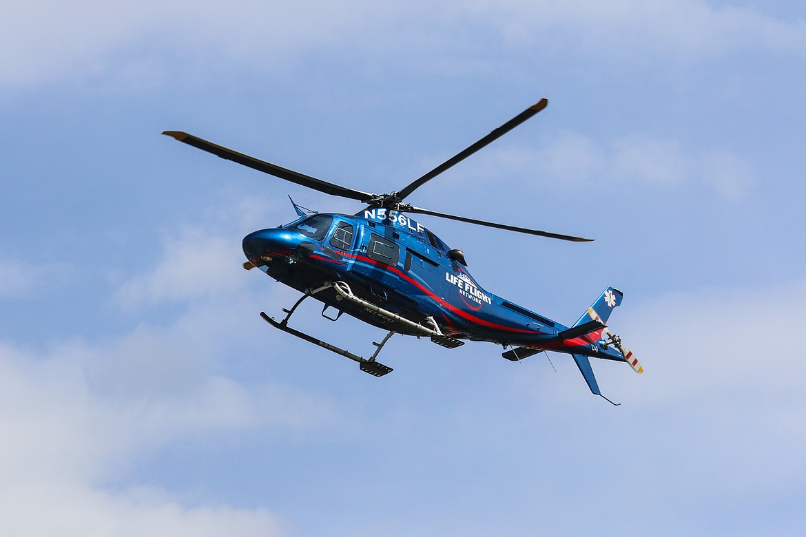
[[[345,282],[360,299],[388,312],[421,324],[431,317],[449,337],[516,347],[503,354],[509,360],[543,350],[571,354],[594,394],[600,390],[588,357],[627,361],[620,344],[605,341],[605,322],[621,304],[621,291],[609,287],[580,320],[565,326],[486,291],[467,270],[459,250],[451,250],[429,229],[395,211],[301,217],[250,233],[243,239],[243,252],[251,265],[297,291]],[[314,298],[378,328],[422,335],[343,300],[333,288]],[[630,365],[641,371],[638,361]]]

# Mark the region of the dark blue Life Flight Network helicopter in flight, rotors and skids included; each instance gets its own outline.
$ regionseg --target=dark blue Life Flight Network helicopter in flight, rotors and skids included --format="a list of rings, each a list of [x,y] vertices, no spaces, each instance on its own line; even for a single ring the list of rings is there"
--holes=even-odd
[[[163,134],[182,143],[251,167],[280,179],[364,204],[353,215],[318,213],[296,204],[297,219],[272,229],[260,229],[243,238],[244,268],[260,269],[280,283],[302,293],[285,317],[260,316],[285,333],[309,341],[359,363],[360,370],[381,377],[393,369],[376,360],[394,334],[428,337],[447,349],[465,341],[501,345],[502,357],[520,361],[544,351],[571,354],[592,394],[600,395],[589,357],[625,361],[643,368],[621,337],[606,323],[623,293],[607,287],[571,326],[550,320],[512,301],[486,291],[467,270],[462,250],[451,249],[430,229],[409,214],[425,214],[474,225],[527,233],[571,242],[592,239],[549,233],[513,225],[439,213],[415,207],[405,200],[415,190],[455,164],[467,159],[503,134],[513,130],[548,105],[543,98],[521,114],[399,191],[376,194],[347,188],[306,176],[276,164],[244,155],[192,134],[166,130]],[[303,300],[313,297],[324,304],[322,316],[339,320],[343,314],[383,328],[386,336],[372,356],[364,358],[289,326]],[[616,403],[613,403],[616,404]]]

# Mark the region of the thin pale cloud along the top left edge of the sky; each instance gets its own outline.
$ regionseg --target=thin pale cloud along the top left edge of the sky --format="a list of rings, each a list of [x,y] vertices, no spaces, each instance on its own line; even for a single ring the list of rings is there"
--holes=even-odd
[[[190,53],[217,61],[246,60],[274,64],[289,54],[343,39],[368,24],[372,2],[350,9],[324,1],[256,2],[101,2],[39,0],[5,2],[0,19],[0,71],[6,85],[29,84],[60,76],[97,76],[137,71],[160,76],[149,60],[163,48],[162,60]],[[143,57],[127,60],[139,48]],[[110,59],[123,52],[124,57]]]

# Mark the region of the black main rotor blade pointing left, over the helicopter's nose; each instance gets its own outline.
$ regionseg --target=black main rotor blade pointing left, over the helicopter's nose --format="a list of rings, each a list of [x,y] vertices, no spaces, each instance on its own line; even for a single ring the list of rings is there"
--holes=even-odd
[[[213,155],[218,155],[222,159],[243,164],[244,166],[251,167],[257,171],[263,171],[271,176],[280,177],[280,179],[301,184],[304,187],[313,188],[319,192],[325,192],[326,194],[331,194],[333,196],[341,196],[359,201],[366,201],[372,198],[372,194],[369,192],[353,190],[352,188],[339,186],[338,184],[328,183],[327,181],[316,179],[315,177],[306,176],[298,171],[289,170],[285,167],[277,166],[276,164],[264,162],[263,160],[256,159],[249,155],[243,155],[243,153],[239,153],[238,151],[232,151],[226,147],[208,142],[202,138],[197,138],[196,136],[193,136],[193,134],[187,134],[177,130],[166,130],[162,134],[176,138],[180,142],[184,142],[189,146],[197,147],[203,151],[212,153]]]

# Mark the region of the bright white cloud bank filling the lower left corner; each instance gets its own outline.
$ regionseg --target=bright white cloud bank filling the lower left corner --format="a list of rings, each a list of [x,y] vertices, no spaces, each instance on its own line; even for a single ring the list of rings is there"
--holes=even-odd
[[[289,386],[243,386],[212,374],[207,342],[193,345],[184,330],[181,323],[164,330],[141,327],[105,343],[58,345],[44,356],[0,343],[5,531],[283,533],[280,519],[262,507],[197,505],[160,488],[101,485],[179,440],[338,423],[330,403]]]

